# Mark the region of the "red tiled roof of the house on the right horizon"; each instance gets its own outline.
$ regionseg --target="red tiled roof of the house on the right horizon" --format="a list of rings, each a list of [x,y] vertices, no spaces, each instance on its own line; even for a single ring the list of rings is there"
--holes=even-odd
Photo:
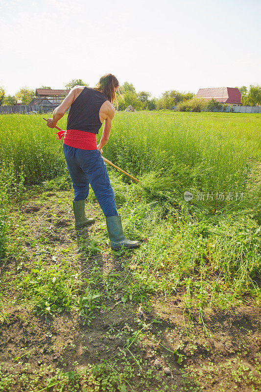
[[[214,98],[223,103],[241,103],[241,93],[233,87],[213,87],[208,89],[199,89],[196,97],[211,100]]]

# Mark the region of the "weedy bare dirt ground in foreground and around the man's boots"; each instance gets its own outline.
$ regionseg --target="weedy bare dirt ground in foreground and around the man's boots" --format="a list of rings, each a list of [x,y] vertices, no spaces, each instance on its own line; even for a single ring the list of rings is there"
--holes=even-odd
[[[96,218],[81,233],[88,240],[106,226],[96,203],[88,203],[86,212]],[[104,297],[104,306],[95,311],[90,325],[77,312],[64,311],[47,319],[36,316],[29,298],[17,300],[20,293],[14,282],[18,272],[34,268],[43,238],[51,249],[42,255],[47,266],[66,254],[82,276],[88,278],[95,265],[123,286],[132,273],[132,256],[112,252],[104,242],[101,253],[85,263],[73,227],[71,192],[32,193],[14,209],[12,224],[14,241],[21,236],[24,259],[20,252],[20,258],[0,260],[6,315],[0,327],[0,375],[2,380],[13,375],[12,383],[0,381],[0,391],[40,391],[55,369],[79,372],[105,361],[112,374],[121,374],[120,383],[86,391],[261,391],[261,308],[246,301],[222,311],[207,309],[202,325],[197,310],[186,307],[182,291],[170,297],[148,294],[143,303],[124,303],[119,289]],[[38,385],[27,389],[25,373],[38,375]],[[78,390],[84,390],[83,384]]]

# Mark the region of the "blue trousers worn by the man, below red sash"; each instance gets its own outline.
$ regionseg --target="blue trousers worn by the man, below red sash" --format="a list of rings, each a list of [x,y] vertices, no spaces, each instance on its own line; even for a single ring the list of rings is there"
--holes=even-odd
[[[82,150],[63,144],[64,156],[74,190],[74,201],[89,195],[89,184],[105,217],[118,215],[115,195],[99,150]]]

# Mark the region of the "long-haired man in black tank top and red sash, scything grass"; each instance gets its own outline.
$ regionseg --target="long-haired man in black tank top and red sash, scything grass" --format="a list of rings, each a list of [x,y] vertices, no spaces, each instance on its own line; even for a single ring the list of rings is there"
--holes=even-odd
[[[114,250],[122,245],[128,248],[140,246],[139,241],[130,241],[124,237],[114,191],[101,156],[102,147],[109,140],[115,114],[112,103],[116,99],[118,88],[119,82],[111,73],[103,75],[94,89],[75,86],[53,111],[52,119],[47,120],[47,126],[54,128],[71,106],[63,149],[74,190],[75,228],[79,229],[94,222],[94,219],[85,217],[84,211],[90,184],[106,217],[111,247]],[[97,146],[96,134],[103,122],[102,137]]]

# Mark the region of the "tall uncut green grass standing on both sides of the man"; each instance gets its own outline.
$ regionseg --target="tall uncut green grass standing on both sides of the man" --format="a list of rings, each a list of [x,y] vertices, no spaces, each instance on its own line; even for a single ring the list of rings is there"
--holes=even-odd
[[[261,159],[260,116],[224,114],[220,121],[223,114],[208,114],[116,113],[104,155],[135,175],[157,172],[169,178],[172,191],[243,190],[253,161]],[[59,126],[65,129],[66,116]],[[62,143],[55,131],[40,115],[2,115],[0,164],[12,164],[25,182],[63,173]]]

